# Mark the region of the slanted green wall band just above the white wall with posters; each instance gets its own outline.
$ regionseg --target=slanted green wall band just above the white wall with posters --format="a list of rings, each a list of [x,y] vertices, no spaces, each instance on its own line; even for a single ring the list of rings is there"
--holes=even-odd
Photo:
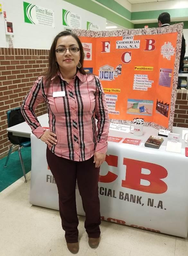
[[[116,23],[120,26],[126,28],[134,28],[134,24],[123,17],[120,17],[118,14],[113,13],[112,11],[106,9],[105,7],[98,5],[97,3],[91,0],[65,0],[66,2],[76,5],[82,9],[85,9],[91,13],[97,14],[108,21]],[[108,1],[106,1],[108,2]],[[110,2],[110,1],[109,1]],[[110,7],[109,7],[110,8]],[[112,8],[112,6],[111,6]]]

